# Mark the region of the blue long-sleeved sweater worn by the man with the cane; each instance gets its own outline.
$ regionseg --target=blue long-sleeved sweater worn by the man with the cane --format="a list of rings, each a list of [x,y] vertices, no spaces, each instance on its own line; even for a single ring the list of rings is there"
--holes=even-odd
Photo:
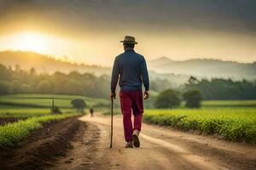
[[[141,90],[142,83],[145,90],[149,90],[148,69],[143,55],[137,54],[133,49],[125,50],[123,54],[119,54],[113,62],[112,93],[115,93],[118,80],[120,91]]]

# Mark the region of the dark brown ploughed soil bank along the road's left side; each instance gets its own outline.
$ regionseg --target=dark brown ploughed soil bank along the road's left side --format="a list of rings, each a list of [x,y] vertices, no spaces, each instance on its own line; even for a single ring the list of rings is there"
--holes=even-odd
[[[44,169],[66,156],[69,141],[84,124],[78,117],[44,124],[15,147],[0,148],[0,169]]]

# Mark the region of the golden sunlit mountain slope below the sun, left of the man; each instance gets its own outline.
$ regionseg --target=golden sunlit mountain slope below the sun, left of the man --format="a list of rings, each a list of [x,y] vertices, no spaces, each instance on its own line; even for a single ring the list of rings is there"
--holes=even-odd
[[[61,61],[44,54],[37,54],[33,52],[21,51],[3,51],[0,52],[0,63],[7,66],[14,67],[20,65],[20,69],[30,70],[32,67],[38,72],[53,73],[61,71],[68,73],[70,71],[79,71],[81,73],[90,72],[96,76],[102,74],[110,74],[109,67],[102,67],[98,65],[84,65],[75,64],[67,61]]]

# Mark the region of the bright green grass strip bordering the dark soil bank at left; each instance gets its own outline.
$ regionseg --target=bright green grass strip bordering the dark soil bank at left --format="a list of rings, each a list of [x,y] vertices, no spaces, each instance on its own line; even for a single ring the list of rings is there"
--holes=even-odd
[[[44,122],[60,120],[76,114],[35,116],[26,120],[8,123],[0,127],[0,146],[15,145],[26,137],[32,130],[42,127]]]

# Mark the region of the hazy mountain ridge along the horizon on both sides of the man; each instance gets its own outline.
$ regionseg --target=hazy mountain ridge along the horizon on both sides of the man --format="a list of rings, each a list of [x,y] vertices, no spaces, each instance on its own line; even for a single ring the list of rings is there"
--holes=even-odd
[[[76,64],[33,52],[3,51],[0,52],[0,63],[12,67],[20,65],[20,68],[25,70],[30,70],[33,67],[38,72],[46,73],[79,71],[80,73],[90,72],[96,76],[111,74],[110,67]],[[161,57],[148,60],[148,70],[151,78],[167,79],[171,82],[184,82],[190,75],[207,78],[256,79],[256,62],[239,63],[219,59],[174,61],[167,57]]]

